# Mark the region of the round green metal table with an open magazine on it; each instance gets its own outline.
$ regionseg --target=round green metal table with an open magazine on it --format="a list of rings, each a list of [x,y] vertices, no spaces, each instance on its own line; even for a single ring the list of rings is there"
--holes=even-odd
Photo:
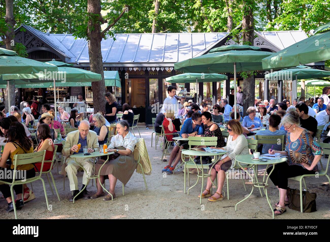
[[[205,151],[199,151],[199,150],[194,150],[194,149],[186,149],[186,150],[182,150],[182,154],[184,155],[188,155],[189,156],[189,161],[188,162],[193,162],[197,168],[197,181],[194,185],[192,185],[191,187],[188,188],[188,195],[189,195],[189,190],[191,188],[193,188],[194,186],[197,185],[198,183],[198,180],[199,180],[199,177],[202,177],[202,189],[201,189],[201,194],[203,193],[203,187],[204,187],[204,178],[207,178],[209,176],[211,176],[210,174],[204,174],[204,168],[203,168],[203,163],[202,163],[202,156],[215,156],[215,161],[213,162],[212,164],[212,167],[211,169],[213,168],[213,166],[219,161],[219,157],[222,156],[223,154],[225,154],[227,152],[221,152],[221,153],[212,153],[212,152],[205,152]],[[194,162],[194,159],[191,158],[191,156],[199,156],[200,159],[201,159],[201,171],[202,171],[202,175],[199,175],[199,168],[198,166],[196,165],[196,163]],[[185,171],[186,171],[186,161],[184,161],[184,193],[186,193],[186,183],[185,183],[185,180],[186,180],[186,174],[185,174]],[[204,164],[206,166],[209,166],[210,164]],[[212,184],[217,187],[213,181],[211,180]],[[200,201],[199,201],[200,204],[202,204],[202,197],[200,198]]]

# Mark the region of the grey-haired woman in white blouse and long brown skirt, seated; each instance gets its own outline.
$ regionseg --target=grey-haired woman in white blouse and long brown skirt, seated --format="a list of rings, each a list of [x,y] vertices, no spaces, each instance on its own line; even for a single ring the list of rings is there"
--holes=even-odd
[[[94,116],[93,116],[94,119]],[[126,120],[120,120],[117,122],[117,134],[111,138],[108,146],[108,152],[115,152],[114,160],[109,160],[102,170],[101,166],[104,160],[100,159],[95,165],[95,175],[99,174],[100,177],[97,179],[97,192],[90,198],[98,198],[104,195],[101,184],[104,179],[109,178],[110,190],[113,198],[116,197],[115,186],[117,179],[119,179],[124,185],[129,181],[133,172],[136,169],[137,162],[134,160],[134,147],[137,143],[137,138],[129,131],[129,125]],[[111,196],[108,194],[103,201],[111,200]]]

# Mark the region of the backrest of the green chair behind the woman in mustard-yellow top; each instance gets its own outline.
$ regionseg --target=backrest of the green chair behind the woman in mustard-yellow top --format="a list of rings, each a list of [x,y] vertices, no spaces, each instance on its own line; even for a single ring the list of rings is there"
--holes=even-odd
[[[41,170],[44,166],[46,150],[27,153],[27,154],[16,154],[14,155],[14,172],[13,172],[13,182],[15,181],[16,175],[16,168],[18,165],[26,165],[26,164],[33,164],[36,162],[41,162]],[[41,174],[39,174],[41,177]],[[28,179],[27,179],[28,180]]]

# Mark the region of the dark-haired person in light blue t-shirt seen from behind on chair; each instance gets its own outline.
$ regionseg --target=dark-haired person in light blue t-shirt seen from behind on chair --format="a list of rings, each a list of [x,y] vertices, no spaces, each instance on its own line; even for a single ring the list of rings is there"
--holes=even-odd
[[[281,117],[277,114],[272,114],[269,118],[269,129],[267,130],[260,130],[257,135],[259,136],[270,136],[273,137],[275,135],[284,135],[284,142],[285,142],[285,136],[286,133],[284,130],[278,130],[277,127],[281,123]],[[262,150],[260,151],[262,146]],[[262,154],[268,154],[268,150],[271,149],[273,146],[273,149],[275,150],[282,150],[282,144],[263,144],[258,146],[258,151]]]

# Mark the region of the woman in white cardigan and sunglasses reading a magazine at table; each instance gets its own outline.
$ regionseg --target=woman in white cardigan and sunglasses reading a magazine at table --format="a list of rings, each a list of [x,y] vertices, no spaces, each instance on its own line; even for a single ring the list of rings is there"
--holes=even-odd
[[[243,129],[239,121],[233,119],[228,121],[228,132],[229,136],[227,139],[227,145],[222,148],[211,147],[215,149],[223,149],[227,150],[228,153],[224,154],[221,157],[221,160],[218,161],[214,166],[213,169],[210,169],[209,174],[211,176],[208,177],[207,185],[205,191],[202,193],[202,198],[210,197],[208,200],[210,202],[216,202],[223,199],[221,194],[223,183],[225,181],[225,172],[231,168],[236,155],[245,155],[248,154],[248,141],[247,138],[243,135]],[[210,165],[210,168],[213,164]],[[218,174],[218,189],[216,190],[215,194],[212,196],[210,189],[212,186],[212,181],[214,181],[216,174]],[[198,197],[200,197],[199,195]]]

